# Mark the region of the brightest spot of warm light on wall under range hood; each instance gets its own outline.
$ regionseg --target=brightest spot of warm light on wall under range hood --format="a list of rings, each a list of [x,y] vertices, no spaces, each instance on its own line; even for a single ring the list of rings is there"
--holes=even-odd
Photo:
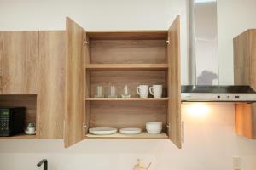
[[[209,113],[209,107],[204,103],[193,103],[188,105],[187,112],[193,117],[203,117]]]

